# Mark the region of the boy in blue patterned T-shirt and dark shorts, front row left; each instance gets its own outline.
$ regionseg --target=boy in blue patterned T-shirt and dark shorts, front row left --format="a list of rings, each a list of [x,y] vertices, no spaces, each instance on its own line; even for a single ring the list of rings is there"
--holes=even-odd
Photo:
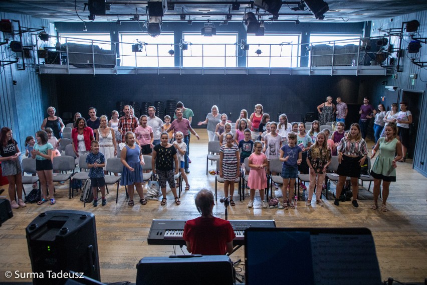
[[[105,157],[99,152],[99,143],[97,140],[92,140],[90,149],[91,152],[86,157],[86,163],[90,168],[89,178],[91,181],[91,188],[93,193],[93,206],[98,206],[98,187],[99,189],[101,189],[101,205],[105,206],[107,205],[107,200],[105,199],[105,179],[103,169],[103,167],[105,166]]]

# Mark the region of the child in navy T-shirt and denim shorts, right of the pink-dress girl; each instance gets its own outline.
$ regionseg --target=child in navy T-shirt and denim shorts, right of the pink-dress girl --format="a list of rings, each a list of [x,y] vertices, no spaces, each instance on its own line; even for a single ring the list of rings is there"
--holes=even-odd
[[[283,208],[284,209],[295,209],[292,203],[293,191],[295,186],[295,180],[298,177],[298,166],[302,162],[301,148],[296,145],[297,134],[294,132],[288,133],[288,145],[284,145],[280,149],[279,160],[283,162],[282,167],[282,178],[283,178]],[[289,184],[289,194],[288,194]],[[287,197],[287,200],[285,200]]]

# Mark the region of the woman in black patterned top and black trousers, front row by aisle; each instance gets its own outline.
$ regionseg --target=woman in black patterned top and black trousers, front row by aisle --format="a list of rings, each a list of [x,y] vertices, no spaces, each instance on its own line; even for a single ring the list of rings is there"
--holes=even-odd
[[[151,166],[153,173],[158,175],[161,194],[160,205],[166,204],[166,181],[169,183],[170,190],[172,190],[173,197],[175,197],[175,204],[181,204],[178,196],[176,195],[175,185],[175,174],[178,174],[179,163],[176,156],[176,149],[168,143],[169,134],[162,132],[160,135],[160,145],[157,145],[153,149],[153,158],[151,160]],[[175,165],[174,165],[175,164]],[[175,171],[173,169],[175,168]]]

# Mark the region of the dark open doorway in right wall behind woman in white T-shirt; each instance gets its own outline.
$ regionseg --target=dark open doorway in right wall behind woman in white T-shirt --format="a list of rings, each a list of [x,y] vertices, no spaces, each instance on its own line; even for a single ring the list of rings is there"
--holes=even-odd
[[[419,115],[421,112],[421,102],[423,91],[419,90],[402,90],[402,100],[399,102],[406,102],[407,109],[412,114],[412,123],[415,129],[415,134],[413,134],[410,138],[410,145],[408,148],[408,158],[413,159],[415,155],[415,143],[416,143],[416,135],[418,133],[418,124],[419,124]]]

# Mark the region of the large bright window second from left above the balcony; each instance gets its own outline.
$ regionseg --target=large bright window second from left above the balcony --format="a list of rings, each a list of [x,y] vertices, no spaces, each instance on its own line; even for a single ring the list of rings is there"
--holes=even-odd
[[[142,43],[141,52],[133,52],[132,45]],[[157,67],[174,66],[173,34],[163,33],[158,37],[148,34],[120,34],[120,59],[122,66]]]

